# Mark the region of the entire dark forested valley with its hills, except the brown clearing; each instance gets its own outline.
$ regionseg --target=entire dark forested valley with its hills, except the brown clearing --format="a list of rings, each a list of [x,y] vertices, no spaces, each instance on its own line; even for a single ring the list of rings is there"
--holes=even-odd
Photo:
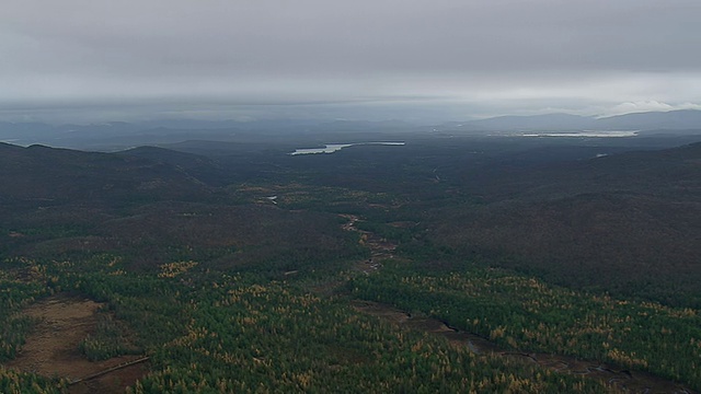
[[[11,367],[27,311],[74,300],[97,305],[76,357],[148,358],[127,393],[701,391],[701,147],[542,143],[2,147],[27,170],[0,170],[0,392],[78,392]]]

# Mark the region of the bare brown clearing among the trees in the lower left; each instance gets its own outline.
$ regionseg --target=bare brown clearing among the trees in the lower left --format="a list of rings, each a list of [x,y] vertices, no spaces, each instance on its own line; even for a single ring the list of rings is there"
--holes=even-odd
[[[55,296],[28,306],[24,313],[39,323],[26,338],[16,359],[7,362],[5,367],[74,381],[139,359],[140,356],[123,356],[93,362],[80,354],[78,345],[94,332],[101,306],[92,300],[65,296]],[[69,393],[124,393],[146,373],[143,363],[129,366],[73,384]]]

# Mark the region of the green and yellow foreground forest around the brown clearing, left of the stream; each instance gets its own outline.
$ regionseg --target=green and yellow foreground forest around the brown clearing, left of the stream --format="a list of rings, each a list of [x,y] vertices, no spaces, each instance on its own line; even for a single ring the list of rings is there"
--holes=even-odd
[[[124,346],[119,339],[127,333],[103,324],[83,346],[88,357],[150,356],[151,372],[127,390],[131,393],[606,391],[597,381],[472,355],[429,334],[399,329],[353,310],[347,294],[320,297],[304,281],[215,273],[194,264],[128,274],[119,265],[96,269],[105,256],[97,258],[85,266],[12,263],[37,275],[31,282],[2,281],[4,359],[15,356],[32,329],[16,312],[68,292],[104,302],[101,313],[136,334],[130,335],[135,344]],[[7,393],[59,393],[68,383],[1,371]]]

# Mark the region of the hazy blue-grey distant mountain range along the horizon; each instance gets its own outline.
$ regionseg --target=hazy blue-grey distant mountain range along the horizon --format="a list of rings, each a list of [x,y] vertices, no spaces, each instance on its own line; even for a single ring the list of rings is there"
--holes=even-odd
[[[21,146],[120,150],[143,144],[176,143],[189,139],[241,141],[291,135],[330,136],[356,132],[413,131],[581,131],[581,130],[701,130],[701,111],[647,112],[597,118],[568,114],[499,116],[487,119],[446,123],[438,126],[412,125],[402,120],[149,120],[113,121],[95,125],[48,125],[43,123],[2,123],[0,141]]]

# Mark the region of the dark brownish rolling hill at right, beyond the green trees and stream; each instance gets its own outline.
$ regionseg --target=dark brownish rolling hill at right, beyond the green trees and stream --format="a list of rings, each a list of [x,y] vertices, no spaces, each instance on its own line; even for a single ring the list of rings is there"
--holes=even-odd
[[[701,304],[701,143],[521,171],[485,190],[491,204],[436,213],[432,240],[567,286]]]

